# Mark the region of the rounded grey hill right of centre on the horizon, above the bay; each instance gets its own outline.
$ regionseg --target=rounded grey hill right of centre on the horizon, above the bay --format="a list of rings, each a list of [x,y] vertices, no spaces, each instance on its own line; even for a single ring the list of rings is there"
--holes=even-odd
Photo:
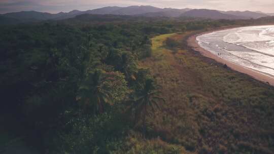
[[[193,9],[183,13],[181,16],[209,19],[242,19],[241,17],[235,15],[224,14],[217,10],[208,9]]]

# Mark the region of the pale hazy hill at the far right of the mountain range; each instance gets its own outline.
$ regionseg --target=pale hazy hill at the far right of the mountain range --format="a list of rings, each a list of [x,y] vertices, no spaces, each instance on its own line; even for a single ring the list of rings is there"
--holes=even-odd
[[[234,16],[238,16],[238,17],[243,17],[243,19],[257,19],[257,18],[261,18],[261,17],[265,17],[267,16],[266,14],[263,13],[258,13],[258,12],[251,12],[251,11],[221,11],[221,13],[224,14],[230,14],[230,15],[234,15]]]

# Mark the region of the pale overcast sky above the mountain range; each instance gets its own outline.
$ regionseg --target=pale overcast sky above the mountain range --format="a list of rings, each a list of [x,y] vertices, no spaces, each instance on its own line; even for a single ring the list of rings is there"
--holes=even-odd
[[[159,8],[191,8],[274,12],[274,0],[0,0],[0,13],[18,11],[69,12],[106,6],[151,5]]]

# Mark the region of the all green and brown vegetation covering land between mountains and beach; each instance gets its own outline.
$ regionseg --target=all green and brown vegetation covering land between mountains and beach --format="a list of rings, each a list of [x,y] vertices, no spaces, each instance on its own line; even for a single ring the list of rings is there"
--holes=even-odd
[[[249,23],[83,15],[1,27],[0,152],[271,153],[273,88],[185,41]]]

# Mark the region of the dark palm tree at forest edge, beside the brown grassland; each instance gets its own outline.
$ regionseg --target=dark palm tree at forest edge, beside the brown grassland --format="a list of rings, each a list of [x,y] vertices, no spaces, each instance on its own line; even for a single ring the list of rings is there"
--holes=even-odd
[[[145,133],[147,115],[151,115],[151,110],[155,111],[156,108],[160,109],[160,105],[158,104],[160,101],[165,102],[163,98],[159,97],[161,92],[157,91],[156,87],[152,79],[146,79],[142,90],[137,94],[137,99],[129,101],[133,102],[130,108],[135,110],[135,124],[138,123],[140,119],[142,120],[143,134]]]

